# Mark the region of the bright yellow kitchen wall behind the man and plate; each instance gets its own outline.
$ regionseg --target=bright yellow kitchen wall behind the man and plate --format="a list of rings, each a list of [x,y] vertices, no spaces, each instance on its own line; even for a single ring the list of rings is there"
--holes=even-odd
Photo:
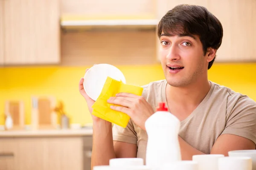
[[[117,66],[127,83],[144,85],[164,79],[160,65]],[[31,96],[53,95],[64,102],[71,123],[91,123],[90,113],[79,94],[78,82],[87,67],[8,67],[0,68],[0,124],[4,123],[4,101],[21,99],[25,102],[25,123],[31,122]],[[217,64],[209,70],[209,80],[246,94],[256,101],[256,63]]]

